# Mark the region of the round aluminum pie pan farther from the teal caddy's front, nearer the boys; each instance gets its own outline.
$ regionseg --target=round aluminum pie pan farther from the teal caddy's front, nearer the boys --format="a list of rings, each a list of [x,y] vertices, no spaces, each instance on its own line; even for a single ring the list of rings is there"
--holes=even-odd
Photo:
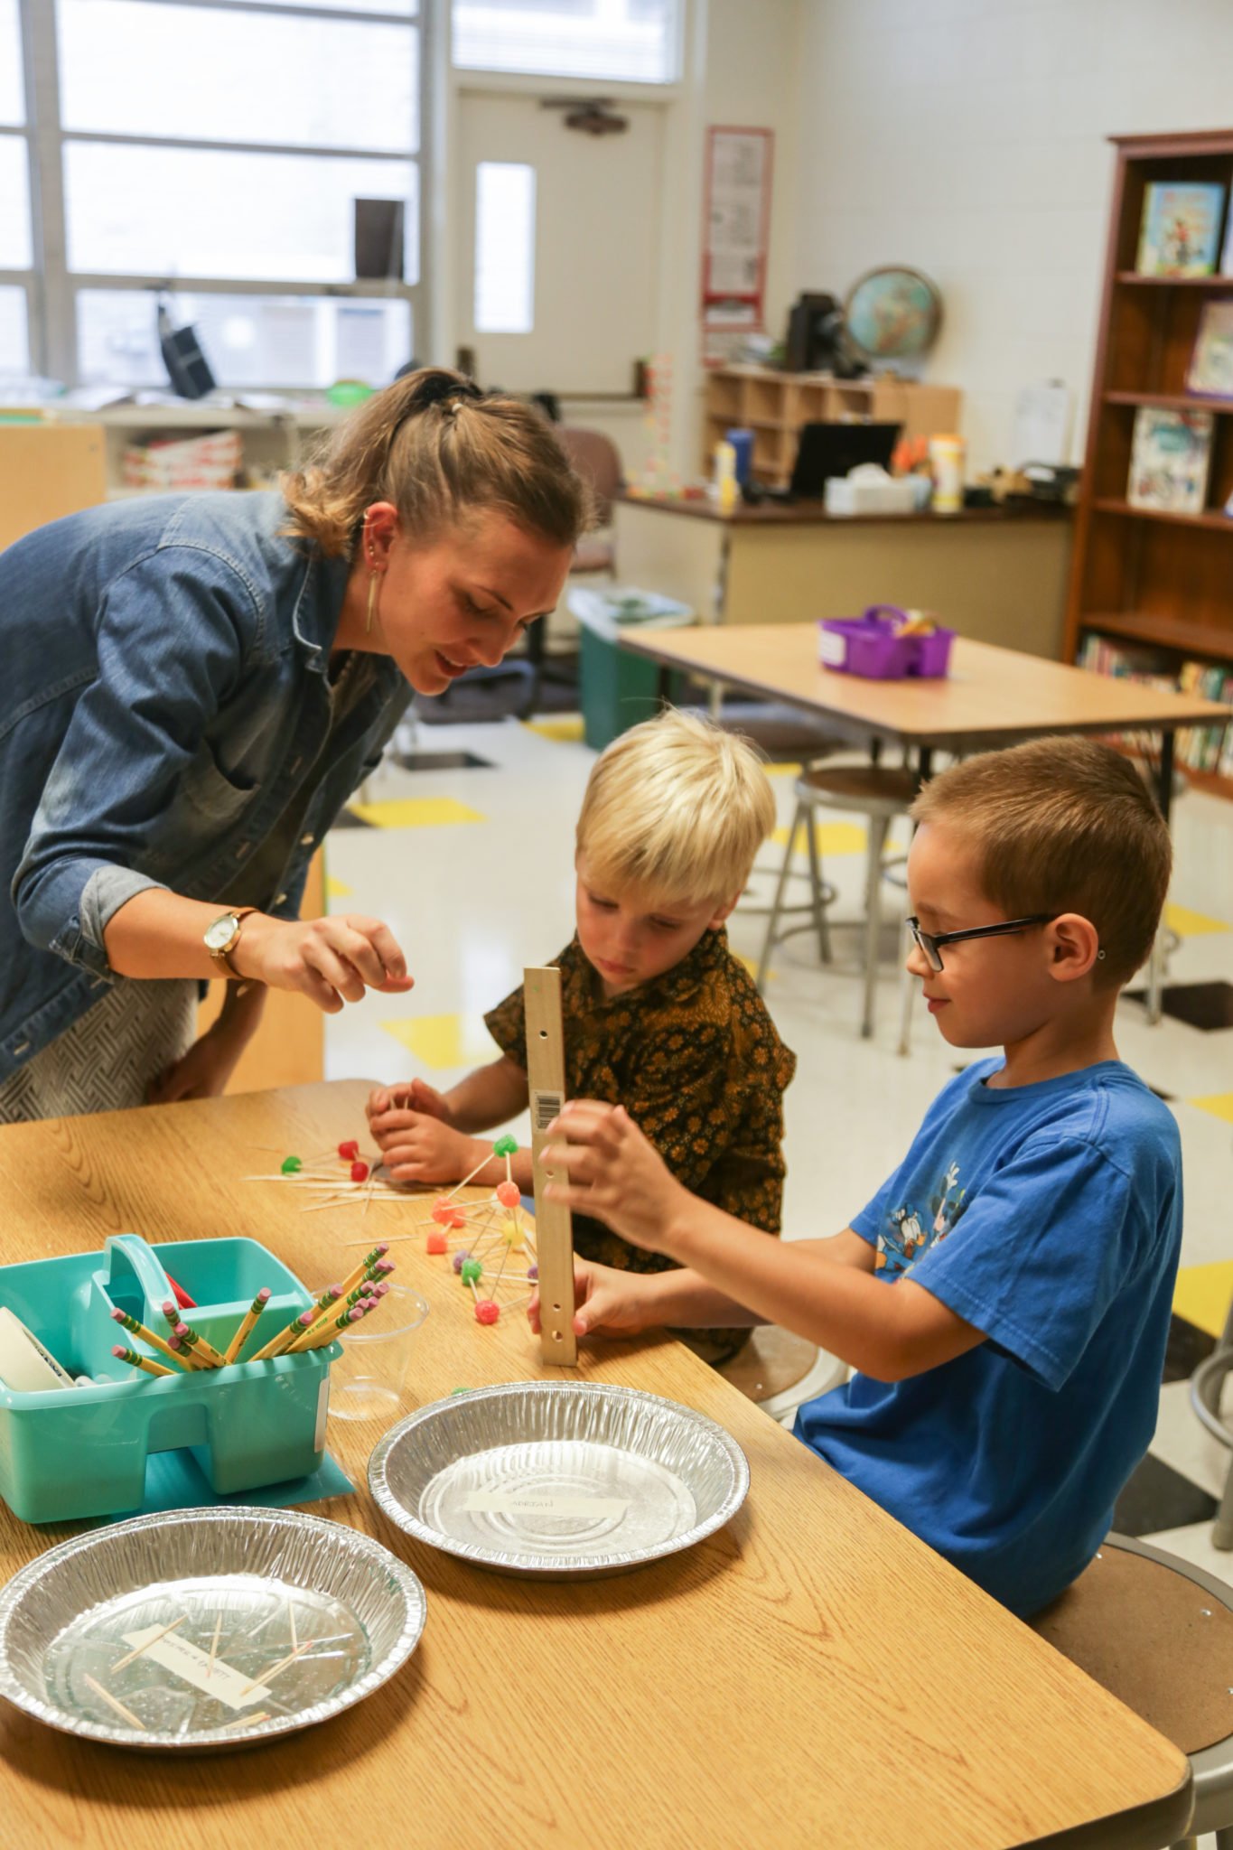
[[[434,1400],[368,1462],[409,1536],[477,1567],[542,1580],[623,1574],[736,1515],[749,1463],[693,1408],[601,1382],[512,1382]]]

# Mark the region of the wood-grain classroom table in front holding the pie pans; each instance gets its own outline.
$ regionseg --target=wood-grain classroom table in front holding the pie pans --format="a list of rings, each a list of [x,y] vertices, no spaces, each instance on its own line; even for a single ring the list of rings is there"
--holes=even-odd
[[[362,1136],[364,1097],[335,1082],[7,1127],[6,1262],[128,1230],[246,1234],[324,1282],[355,1252],[342,1241],[373,1223],[390,1240],[423,1210],[307,1214],[296,1190],[240,1177]],[[407,1412],[453,1388],[560,1378],[519,1317],[475,1323],[421,1238],[392,1249],[431,1302]],[[682,1345],[582,1345],[575,1378],[726,1426],[752,1473],[736,1519],[614,1580],[490,1574],[388,1524],[364,1476],[379,1424],[331,1419],[355,1493],[311,1508],[420,1574],[427,1626],[410,1661],[331,1722],[233,1756],[113,1750],[0,1704],[4,1843],[1004,1850],[1065,1832],[1070,1850],[1150,1850],[1183,1833],[1178,1748]],[[68,1532],[0,1511],[6,1578]]]

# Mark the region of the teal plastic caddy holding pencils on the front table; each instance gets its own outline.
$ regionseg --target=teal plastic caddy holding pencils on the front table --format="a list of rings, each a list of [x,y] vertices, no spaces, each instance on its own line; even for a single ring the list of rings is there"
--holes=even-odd
[[[139,1234],[100,1252],[0,1267],[0,1304],[70,1375],[105,1375],[89,1388],[13,1393],[0,1386],[0,1497],[24,1523],[68,1523],[137,1510],[150,1452],[187,1449],[218,1495],[307,1476],[325,1450],[329,1365],[336,1343],[270,1362],[152,1376],[111,1354],[116,1339],[165,1358],[113,1321],[126,1310],[163,1334],[166,1271],[196,1301],[192,1328],[216,1349],[261,1286],[270,1288],[248,1349],[261,1349],[312,1297],[255,1240],[192,1240],[150,1247]]]

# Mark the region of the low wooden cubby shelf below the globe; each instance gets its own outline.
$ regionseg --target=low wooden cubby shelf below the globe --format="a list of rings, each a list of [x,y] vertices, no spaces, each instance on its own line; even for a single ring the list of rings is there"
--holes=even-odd
[[[706,376],[702,472],[710,475],[715,444],[734,426],[754,433],[754,475],[786,488],[797,461],[802,424],[871,418],[902,424],[902,437],[958,431],[963,394],[950,385],[915,379],[834,379],[824,372],[778,372],[773,366],[717,366]]]

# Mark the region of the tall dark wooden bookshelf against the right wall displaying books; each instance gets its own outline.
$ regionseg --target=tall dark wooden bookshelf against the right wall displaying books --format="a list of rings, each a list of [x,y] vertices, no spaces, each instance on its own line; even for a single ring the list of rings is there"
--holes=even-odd
[[[1233,196],[1233,130],[1192,135],[1115,135],[1109,215],[1087,457],[1074,527],[1063,659],[1087,635],[1150,649],[1159,672],[1183,662],[1233,662],[1233,401],[1187,392],[1203,305],[1233,300],[1233,276],[1141,276],[1146,187],[1218,181]],[[1202,512],[1131,507],[1126,500],[1141,405],[1213,414],[1207,503]],[[1233,797],[1233,779],[1187,775]]]

